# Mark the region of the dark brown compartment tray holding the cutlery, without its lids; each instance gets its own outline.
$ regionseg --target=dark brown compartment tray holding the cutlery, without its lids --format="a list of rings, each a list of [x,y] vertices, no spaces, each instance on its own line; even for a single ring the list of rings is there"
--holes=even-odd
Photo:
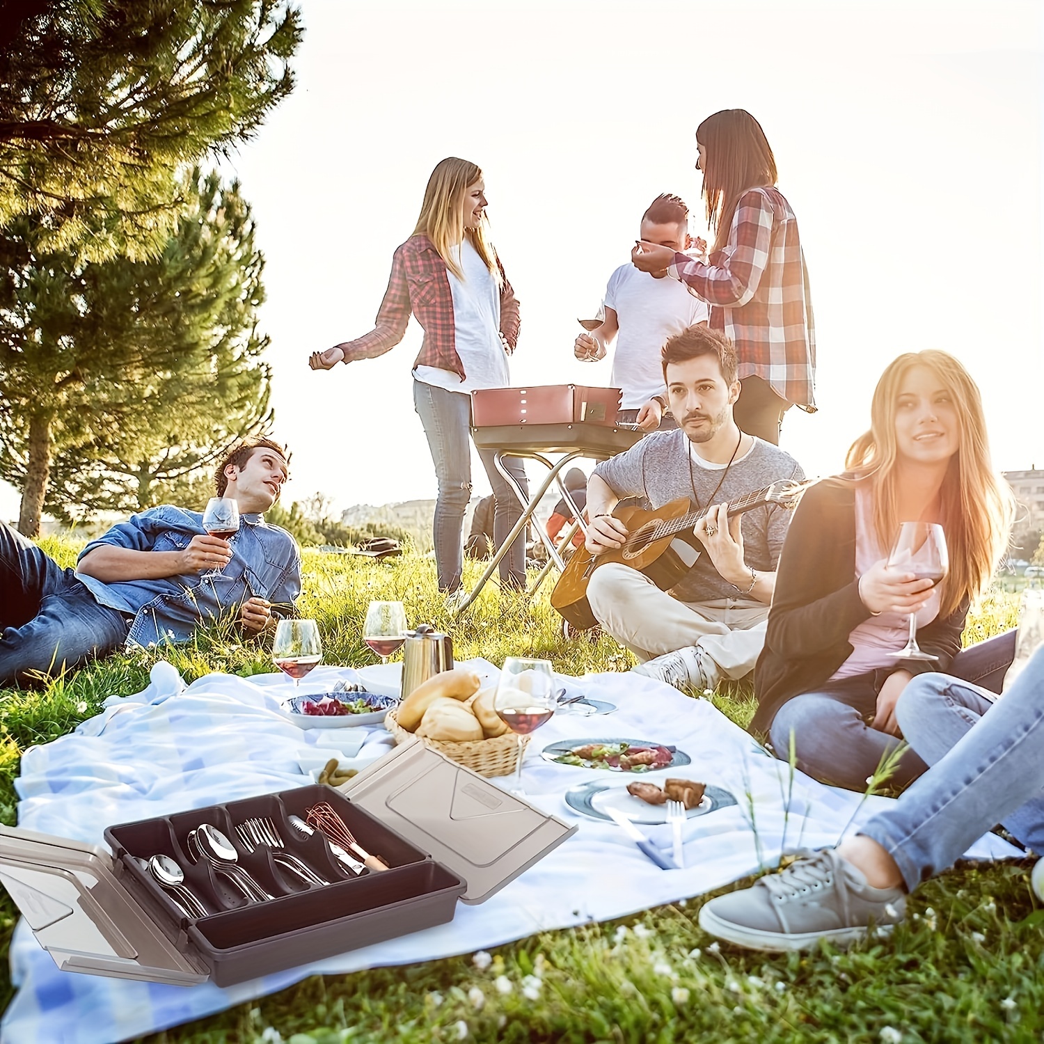
[[[366,851],[379,855],[386,871],[356,876],[330,852],[316,830],[299,833],[288,816],[328,802]],[[278,865],[267,847],[250,852],[235,827],[246,820],[270,820],[284,851],[308,864],[330,884],[309,884]],[[186,838],[200,824],[217,827],[235,846],[238,864],[274,898],[247,900],[227,877],[205,861],[193,862]],[[217,986],[293,968],[321,957],[358,949],[453,919],[464,882],[394,830],[327,786],[211,805],[174,815],[125,823],[105,830],[117,860],[116,874],[127,889],[148,897],[157,924],[176,944],[185,938]],[[136,856],[163,854],[185,872],[185,884],[210,911],[188,918]]]

